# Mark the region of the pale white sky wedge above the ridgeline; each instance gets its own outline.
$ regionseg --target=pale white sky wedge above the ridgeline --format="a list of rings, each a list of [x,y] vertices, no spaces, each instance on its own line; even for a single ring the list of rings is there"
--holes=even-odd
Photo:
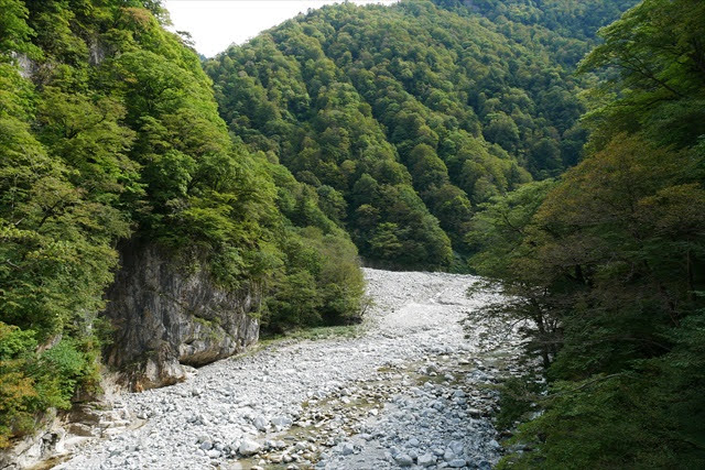
[[[392,4],[397,0],[349,0],[351,3]],[[196,51],[213,57],[230,44],[242,44],[312,8],[339,0],[163,0],[174,31],[187,31]]]

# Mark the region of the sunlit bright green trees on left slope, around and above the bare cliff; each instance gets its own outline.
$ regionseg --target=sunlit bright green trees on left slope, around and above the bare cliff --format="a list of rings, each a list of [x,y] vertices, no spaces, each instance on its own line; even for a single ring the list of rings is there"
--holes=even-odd
[[[340,321],[357,252],[283,167],[234,144],[158,1],[0,1],[0,447],[97,386],[119,240],[279,327]]]

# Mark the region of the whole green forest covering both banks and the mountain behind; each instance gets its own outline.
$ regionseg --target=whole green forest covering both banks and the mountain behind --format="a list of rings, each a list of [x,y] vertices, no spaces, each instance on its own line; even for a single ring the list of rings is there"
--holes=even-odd
[[[705,466],[704,2],[346,3],[205,62],[166,21],[0,0],[0,448],[98,386],[138,239],[280,330],[358,314],[358,250],[469,269],[542,367],[500,466]]]

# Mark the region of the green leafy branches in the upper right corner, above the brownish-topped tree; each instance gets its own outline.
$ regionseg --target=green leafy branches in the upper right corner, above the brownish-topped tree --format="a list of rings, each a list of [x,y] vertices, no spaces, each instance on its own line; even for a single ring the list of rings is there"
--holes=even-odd
[[[596,90],[603,106],[589,114],[595,146],[637,131],[662,145],[696,144],[705,133],[703,21],[701,1],[651,0],[600,31],[605,43],[581,63],[581,70],[615,73]]]

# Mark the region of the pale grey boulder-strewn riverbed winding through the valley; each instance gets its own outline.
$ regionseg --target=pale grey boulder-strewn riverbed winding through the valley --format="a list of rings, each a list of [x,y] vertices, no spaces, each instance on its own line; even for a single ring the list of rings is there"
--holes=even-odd
[[[468,298],[473,276],[366,275],[376,305],[355,338],[280,343],[122,395],[131,426],[58,468],[490,468],[491,384],[517,372],[519,341],[460,321],[492,294]]]

